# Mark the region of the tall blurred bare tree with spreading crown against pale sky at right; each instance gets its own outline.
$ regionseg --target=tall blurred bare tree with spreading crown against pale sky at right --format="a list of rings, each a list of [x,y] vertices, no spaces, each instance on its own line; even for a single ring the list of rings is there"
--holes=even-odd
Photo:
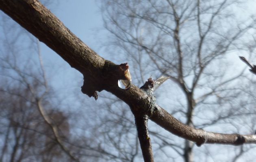
[[[255,95],[250,92],[255,86],[250,84],[252,77],[245,77],[245,68],[237,67],[241,53],[255,57],[256,19],[246,12],[248,4],[238,0],[100,2],[104,26],[113,36],[108,45],[118,47],[115,50],[132,62],[133,81],[143,83],[150,75],[171,77],[171,88],[161,92],[172,101],[167,101],[171,114],[191,127],[214,130],[225,123],[231,128],[219,131],[254,131],[254,126],[243,130],[242,120],[252,120],[256,113]],[[178,102],[172,99],[177,95],[182,98]],[[193,162],[193,143],[186,140],[179,145],[168,136],[156,134],[162,153],[174,158],[164,149],[169,147],[185,162]]]

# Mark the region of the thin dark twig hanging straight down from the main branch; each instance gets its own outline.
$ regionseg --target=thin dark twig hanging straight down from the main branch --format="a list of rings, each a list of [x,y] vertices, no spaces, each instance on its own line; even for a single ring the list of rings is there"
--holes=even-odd
[[[148,116],[135,114],[135,124],[137,126],[143,159],[145,162],[154,162],[152,145],[148,132]]]

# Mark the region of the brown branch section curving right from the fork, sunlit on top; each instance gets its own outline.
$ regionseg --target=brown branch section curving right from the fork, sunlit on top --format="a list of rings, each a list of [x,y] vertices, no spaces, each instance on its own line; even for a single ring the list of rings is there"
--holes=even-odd
[[[189,141],[195,142],[197,146],[201,146],[204,143],[218,143],[226,145],[243,145],[244,143],[256,143],[255,134],[223,134],[192,128],[178,121],[158,105],[155,105],[155,112],[150,117],[150,119],[169,132]]]

